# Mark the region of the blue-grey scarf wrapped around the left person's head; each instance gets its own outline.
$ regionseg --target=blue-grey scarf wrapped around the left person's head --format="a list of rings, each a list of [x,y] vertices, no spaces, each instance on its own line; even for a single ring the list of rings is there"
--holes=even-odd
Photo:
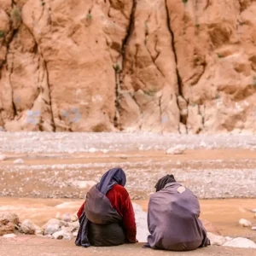
[[[106,172],[100,183],[96,184],[96,188],[102,192],[103,195],[107,195],[108,191],[113,188],[113,185],[119,184],[125,187],[126,176],[125,172],[121,168],[113,168]]]

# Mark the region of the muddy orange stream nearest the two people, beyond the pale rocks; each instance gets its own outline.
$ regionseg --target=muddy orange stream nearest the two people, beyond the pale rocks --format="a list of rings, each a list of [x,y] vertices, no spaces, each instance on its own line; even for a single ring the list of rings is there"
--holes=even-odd
[[[20,220],[29,218],[42,226],[49,218],[65,212],[77,212],[81,200],[0,198],[0,212],[16,212]],[[148,201],[133,201],[147,211]],[[223,236],[243,236],[256,241],[256,231],[238,225],[240,218],[256,224],[253,213],[246,209],[256,208],[256,199],[201,200],[201,218],[207,219]]]

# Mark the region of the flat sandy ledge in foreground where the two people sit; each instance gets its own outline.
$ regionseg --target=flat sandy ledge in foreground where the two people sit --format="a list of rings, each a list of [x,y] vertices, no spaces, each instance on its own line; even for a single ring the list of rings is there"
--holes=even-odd
[[[20,236],[14,240],[0,238],[0,256],[140,256],[140,255],[172,255],[172,256],[253,256],[254,249],[231,247],[207,247],[193,252],[175,253],[143,249],[143,243],[123,245],[119,247],[76,247],[73,241],[53,241],[45,238]]]

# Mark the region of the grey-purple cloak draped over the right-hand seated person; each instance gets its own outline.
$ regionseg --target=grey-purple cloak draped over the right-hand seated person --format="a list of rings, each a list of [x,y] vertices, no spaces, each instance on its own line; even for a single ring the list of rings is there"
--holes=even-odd
[[[210,241],[199,215],[199,201],[193,192],[179,183],[167,183],[150,197],[148,246],[170,251],[207,247]]]

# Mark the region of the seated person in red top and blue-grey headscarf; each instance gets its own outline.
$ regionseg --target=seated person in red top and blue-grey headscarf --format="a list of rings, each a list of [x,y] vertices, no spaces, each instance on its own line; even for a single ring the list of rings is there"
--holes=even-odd
[[[125,172],[113,168],[89,190],[78,212],[77,246],[116,246],[125,241],[136,242],[135,216],[125,183]]]

